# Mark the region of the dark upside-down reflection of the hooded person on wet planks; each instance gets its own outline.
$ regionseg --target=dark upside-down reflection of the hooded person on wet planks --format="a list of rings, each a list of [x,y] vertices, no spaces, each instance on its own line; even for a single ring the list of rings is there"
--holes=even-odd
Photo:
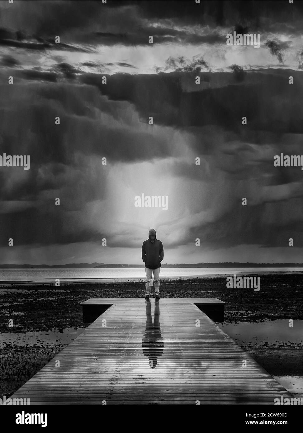
[[[155,318],[152,324],[152,311],[149,299],[146,301],[146,325],[145,334],[142,339],[142,350],[149,359],[150,368],[155,368],[157,358],[162,355],[164,350],[164,338],[161,336],[160,329],[160,307],[159,300],[155,300]]]

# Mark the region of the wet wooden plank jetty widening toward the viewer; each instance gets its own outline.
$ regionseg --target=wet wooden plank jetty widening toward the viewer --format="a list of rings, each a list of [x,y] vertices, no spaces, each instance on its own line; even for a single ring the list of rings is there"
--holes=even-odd
[[[195,305],[205,303],[222,301],[86,301],[112,306],[11,397],[31,405],[274,404],[292,397]]]

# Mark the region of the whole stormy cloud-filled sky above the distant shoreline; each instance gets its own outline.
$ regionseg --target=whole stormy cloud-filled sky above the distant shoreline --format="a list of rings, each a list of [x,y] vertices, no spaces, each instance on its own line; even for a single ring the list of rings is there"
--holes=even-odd
[[[151,228],[163,263],[303,262],[303,171],[274,166],[303,155],[302,15],[296,1],[0,1],[0,155],[30,155],[0,167],[0,263],[143,264]],[[260,48],[227,45],[233,31]],[[168,209],[135,207],[142,194]]]

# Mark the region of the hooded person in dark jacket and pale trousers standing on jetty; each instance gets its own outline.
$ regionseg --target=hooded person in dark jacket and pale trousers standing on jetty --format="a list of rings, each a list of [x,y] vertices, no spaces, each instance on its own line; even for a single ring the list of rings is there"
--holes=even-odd
[[[150,229],[148,232],[148,240],[142,244],[142,260],[145,263],[145,298],[149,301],[151,294],[152,273],[154,273],[155,283],[155,298],[160,298],[160,281],[159,273],[161,268],[161,262],[164,258],[164,249],[162,242],[156,239],[157,233],[154,229]]]

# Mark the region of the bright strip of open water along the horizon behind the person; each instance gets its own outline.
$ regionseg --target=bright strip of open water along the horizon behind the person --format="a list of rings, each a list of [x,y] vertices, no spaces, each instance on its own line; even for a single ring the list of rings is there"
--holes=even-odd
[[[224,275],[260,275],[262,273],[303,272],[303,268],[161,268],[161,278],[211,278]],[[123,282],[145,280],[145,268],[42,268],[0,269],[0,285],[12,282]]]

